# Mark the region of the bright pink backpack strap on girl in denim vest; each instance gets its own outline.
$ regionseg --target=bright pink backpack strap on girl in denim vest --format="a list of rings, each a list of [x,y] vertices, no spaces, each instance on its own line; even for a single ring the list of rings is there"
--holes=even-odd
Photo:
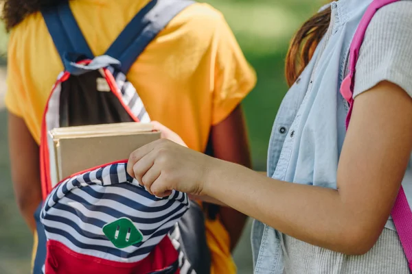
[[[367,8],[361,23],[356,29],[352,44],[350,45],[350,60],[349,60],[349,73],[345,79],[343,79],[341,85],[341,95],[350,104],[350,110],[346,117],[346,128],[349,125],[350,117],[352,114],[352,108],[354,105],[354,99],[352,97],[354,92],[354,77],[356,62],[358,61],[359,50],[365,38],[365,32],[371,19],[374,17],[377,10],[390,3],[397,2],[399,0],[374,0]],[[408,204],[407,197],[405,195],[402,186],[396,197],[395,204],[391,211],[393,223],[395,223],[396,230],[402,243],[404,253],[407,256],[409,263],[409,269],[412,271],[412,211]]]

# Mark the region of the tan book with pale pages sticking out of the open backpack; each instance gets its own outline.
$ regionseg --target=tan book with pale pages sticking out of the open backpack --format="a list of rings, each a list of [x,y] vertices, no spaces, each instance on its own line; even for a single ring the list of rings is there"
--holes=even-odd
[[[75,173],[127,160],[130,153],[160,138],[150,123],[59,127],[48,132],[52,186]]]

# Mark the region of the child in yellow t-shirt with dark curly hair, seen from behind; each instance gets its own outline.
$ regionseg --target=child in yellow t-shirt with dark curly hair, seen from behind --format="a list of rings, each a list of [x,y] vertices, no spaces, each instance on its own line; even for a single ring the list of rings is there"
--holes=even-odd
[[[50,1],[4,2],[10,31],[5,103],[12,179],[21,214],[34,231],[33,214],[41,202],[41,119],[63,66],[39,12]],[[100,55],[147,3],[73,0],[70,6],[93,54]],[[240,102],[255,85],[255,73],[220,12],[204,3],[183,10],[148,45],[127,77],[151,118],[179,134],[188,147],[205,151],[210,140],[216,158],[250,166]],[[230,208],[216,213],[216,219],[205,222],[211,273],[235,273],[231,250],[246,217]]]

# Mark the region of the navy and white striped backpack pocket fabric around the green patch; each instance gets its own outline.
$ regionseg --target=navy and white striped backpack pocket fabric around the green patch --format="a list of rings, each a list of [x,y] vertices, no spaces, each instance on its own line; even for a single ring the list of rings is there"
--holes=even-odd
[[[154,197],[128,175],[125,163],[117,163],[59,184],[44,203],[41,222],[47,239],[62,242],[77,253],[138,262],[148,256],[188,208],[185,193],[173,191],[169,197]],[[122,217],[133,221],[143,240],[118,249],[106,238],[102,227]]]

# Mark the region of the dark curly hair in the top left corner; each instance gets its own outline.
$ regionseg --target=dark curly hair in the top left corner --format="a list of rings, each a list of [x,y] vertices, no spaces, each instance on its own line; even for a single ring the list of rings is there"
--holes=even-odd
[[[50,5],[57,5],[67,0],[0,0],[3,5],[3,14],[1,15],[5,29],[10,29],[19,25],[30,14],[34,14],[41,8]]]

